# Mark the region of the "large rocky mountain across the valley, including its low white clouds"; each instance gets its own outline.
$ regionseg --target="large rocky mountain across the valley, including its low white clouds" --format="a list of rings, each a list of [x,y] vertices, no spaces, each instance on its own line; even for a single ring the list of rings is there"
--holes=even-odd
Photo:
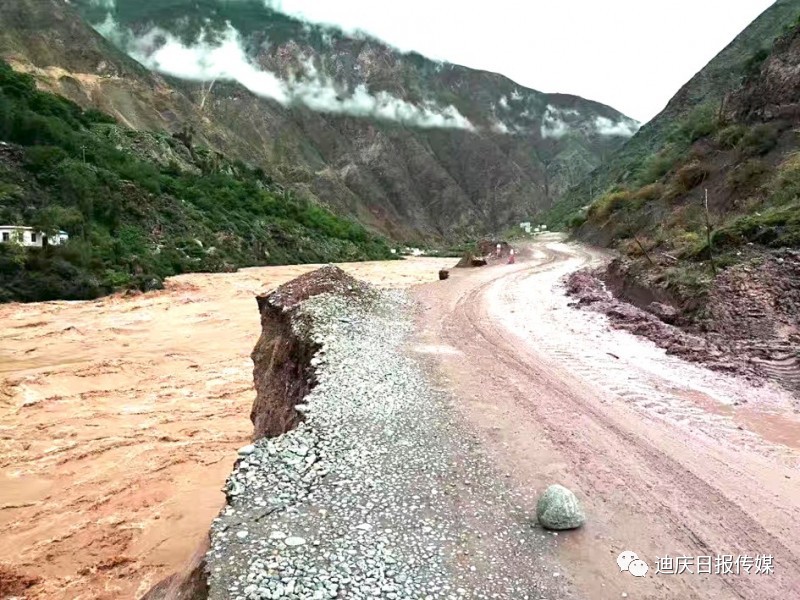
[[[0,55],[41,86],[134,129],[188,133],[396,239],[530,217],[638,126],[261,0],[20,0],[0,24]]]

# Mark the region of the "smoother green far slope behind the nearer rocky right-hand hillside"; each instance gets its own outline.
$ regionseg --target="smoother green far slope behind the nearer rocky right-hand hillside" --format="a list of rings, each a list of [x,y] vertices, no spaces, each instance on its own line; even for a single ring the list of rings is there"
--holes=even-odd
[[[688,81],[661,113],[566,192],[549,211],[549,223],[563,226],[615,186],[630,187],[642,178],[664,175],[687,149],[686,143],[676,140],[681,136],[678,130],[700,126],[696,135],[704,133],[703,122],[708,122],[711,113],[725,111],[726,94],[738,88],[748,74],[757,72],[775,39],[798,15],[800,0],[777,0]]]

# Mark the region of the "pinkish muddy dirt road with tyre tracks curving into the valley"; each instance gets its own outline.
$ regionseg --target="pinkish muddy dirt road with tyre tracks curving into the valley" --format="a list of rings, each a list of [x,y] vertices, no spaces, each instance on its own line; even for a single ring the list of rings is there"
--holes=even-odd
[[[427,354],[499,469],[530,498],[572,488],[589,521],[559,558],[586,598],[800,598],[800,419],[792,398],[668,357],[568,306],[599,254],[551,238],[527,262],[417,289]],[[619,572],[636,552],[647,576]],[[656,559],[769,555],[773,574],[657,574]],[[724,560],[724,559],[723,559]],[[755,561],[754,561],[755,562]],[[763,565],[763,561],[760,561]]]

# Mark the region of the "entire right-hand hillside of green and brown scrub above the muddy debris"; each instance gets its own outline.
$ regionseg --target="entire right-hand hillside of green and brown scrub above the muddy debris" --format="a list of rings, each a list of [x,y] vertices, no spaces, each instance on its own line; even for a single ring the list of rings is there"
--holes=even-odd
[[[798,15],[800,0],[778,0],[551,224],[616,248],[628,280],[700,319],[717,275],[800,247]]]

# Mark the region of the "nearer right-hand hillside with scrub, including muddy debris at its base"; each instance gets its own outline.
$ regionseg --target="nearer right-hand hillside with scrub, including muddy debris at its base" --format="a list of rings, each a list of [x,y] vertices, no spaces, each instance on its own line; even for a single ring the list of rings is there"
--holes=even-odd
[[[577,232],[620,250],[603,277],[621,297],[702,334],[711,355],[738,361],[731,368],[795,391],[799,90],[800,22],[726,95],[724,110],[681,125],[674,143],[683,149],[664,174],[620,182],[592,204]]]

